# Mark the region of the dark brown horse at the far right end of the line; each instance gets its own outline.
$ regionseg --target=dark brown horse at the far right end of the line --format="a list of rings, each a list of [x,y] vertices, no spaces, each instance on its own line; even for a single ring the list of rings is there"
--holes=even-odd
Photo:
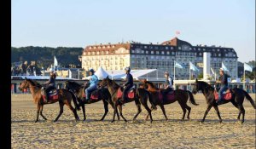
[[[207,100],[207,110],[204,114],[204,117],[201,120],[201,123],[205,121],[207,117],[207,113],[211,110],[212,106],[217,112],[219,123],[222,123],[222,118],[220,117],[220,113],[218,111],[218,104],[216,103],[216,100],[218,100],[218,97],[215,97],[214,90],[215,89],[210,84],[204,81],[198,81],[197,78],[195,79],[194,89],[192,90],[192,92],[196,94],[198,91],[201,91]],[[230,99],[224,100],[222,104],[231,102],[234,106],[236,106],[236,108],[239,110],[237,119],[240,120],[240,117],[242,114],[241,123],[244,123],[245,110],[244,110],[244,107],[242,106],[242,103],[244,98],[246,97],[246,99],[250,101],[253,108],[256,109],[256,106],[253,103],[252,97],[248,95],[245,90],[238,89],[238,88],[230,89],[229,94],[230,94]]]

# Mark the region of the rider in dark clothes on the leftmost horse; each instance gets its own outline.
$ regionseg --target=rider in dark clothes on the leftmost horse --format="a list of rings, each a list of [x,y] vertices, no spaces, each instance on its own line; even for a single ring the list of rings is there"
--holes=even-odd
[[[55,78],[56,78],[55,72],[50,72],[49,73],[49,80],[44,83],[44,85],[46,85],[46,87],[44,89],[44,95],[45,95],[45,100],[47,102],[49,101],[49,96],[48,96],[49,91],[51,89],[55,89]]]

